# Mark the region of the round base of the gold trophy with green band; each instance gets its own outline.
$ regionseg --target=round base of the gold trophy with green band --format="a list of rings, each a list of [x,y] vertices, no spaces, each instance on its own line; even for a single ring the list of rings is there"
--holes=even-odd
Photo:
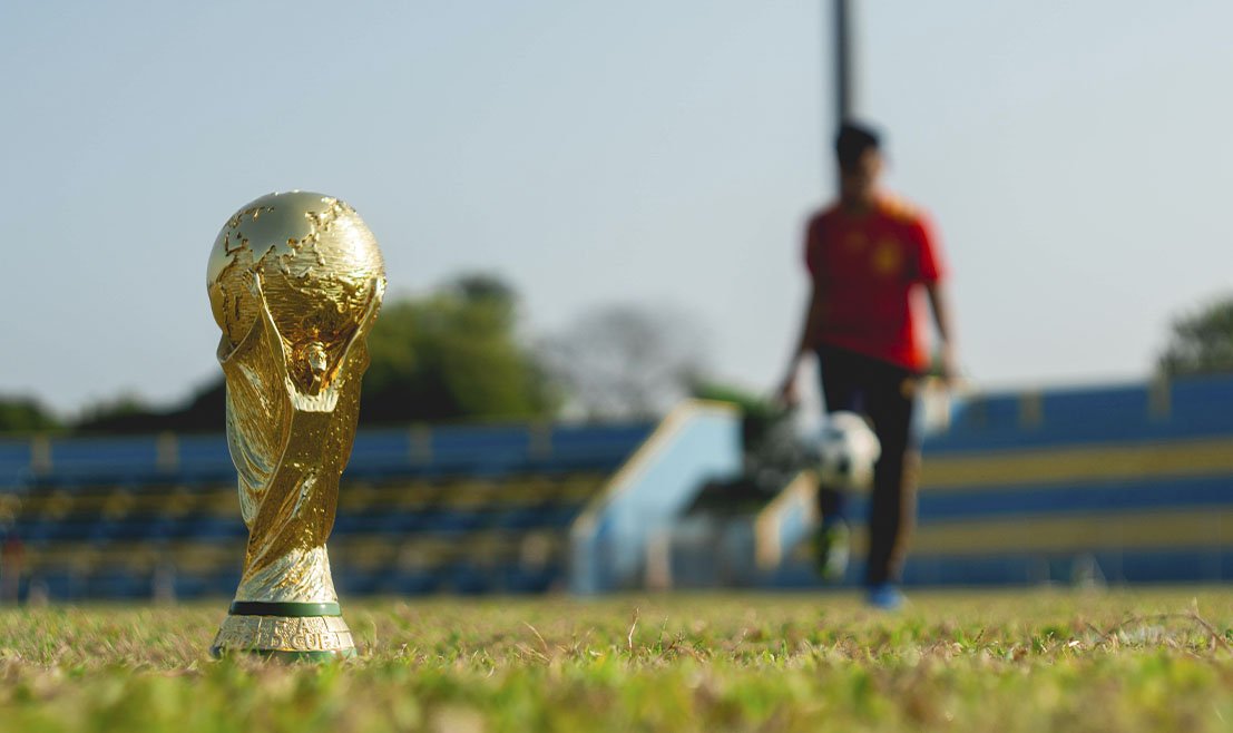
[[[282,661],[355,656],[351,629],[338,603],[236,601],[223,619],[212,656],[242,652]]]

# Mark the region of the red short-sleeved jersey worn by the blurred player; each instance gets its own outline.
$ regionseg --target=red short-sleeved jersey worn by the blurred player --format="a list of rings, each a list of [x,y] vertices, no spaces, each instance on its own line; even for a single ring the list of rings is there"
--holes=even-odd
[[[861,215],[831,206],[809,222],[805,264],[822,300],[816,343],[926,368],[914,290],[943,268],[922,212],[890,197]]]

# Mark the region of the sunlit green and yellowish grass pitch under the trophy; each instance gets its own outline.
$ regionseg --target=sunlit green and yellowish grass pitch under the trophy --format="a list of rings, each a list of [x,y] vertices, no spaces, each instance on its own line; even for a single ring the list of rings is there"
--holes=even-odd
[[[1226,589],[356,601],[326,665],[224,608],[0,610],[0,731],[1233,729]]]

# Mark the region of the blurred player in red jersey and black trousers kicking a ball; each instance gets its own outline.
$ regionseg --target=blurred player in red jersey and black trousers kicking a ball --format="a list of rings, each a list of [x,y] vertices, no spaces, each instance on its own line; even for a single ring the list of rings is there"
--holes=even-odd
[[[928,368],[915,301],[928,295],[938,336],[937,369],[946,381],[957,374],[941,252],[928,218],[884,193],[878,180],[883,157],[878,135],[856,123],[835,138],[840,199],[810,221],[805,264],[813,284],[800,339],[788,364],[780,399],[797,402],[801,358],[817,354],[829,412],[848,410],[869,417],[882,443],[869,507],[869,603],[896,608],[907,536],[916,513],[917,439],[911,434],[912,404]],[[846,559],[845,495],[822,487],[819,548],[826,575],[842,575]]]

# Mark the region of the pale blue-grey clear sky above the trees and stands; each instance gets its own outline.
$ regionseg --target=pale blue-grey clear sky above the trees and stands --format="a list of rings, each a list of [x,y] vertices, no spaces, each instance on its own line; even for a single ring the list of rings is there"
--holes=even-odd
[[[1233,289],[1233,2],[856,0],[858,110],[928,209],[986,387],[1144,378]],[[825,12],[824,12],[825,11]],[[351,204],[392,294],[491,271],[528,336],[693,313],[769,390],[832,193],[824,0],[0,4],[0,394],[217,374],[206,257],[272,190]]]

